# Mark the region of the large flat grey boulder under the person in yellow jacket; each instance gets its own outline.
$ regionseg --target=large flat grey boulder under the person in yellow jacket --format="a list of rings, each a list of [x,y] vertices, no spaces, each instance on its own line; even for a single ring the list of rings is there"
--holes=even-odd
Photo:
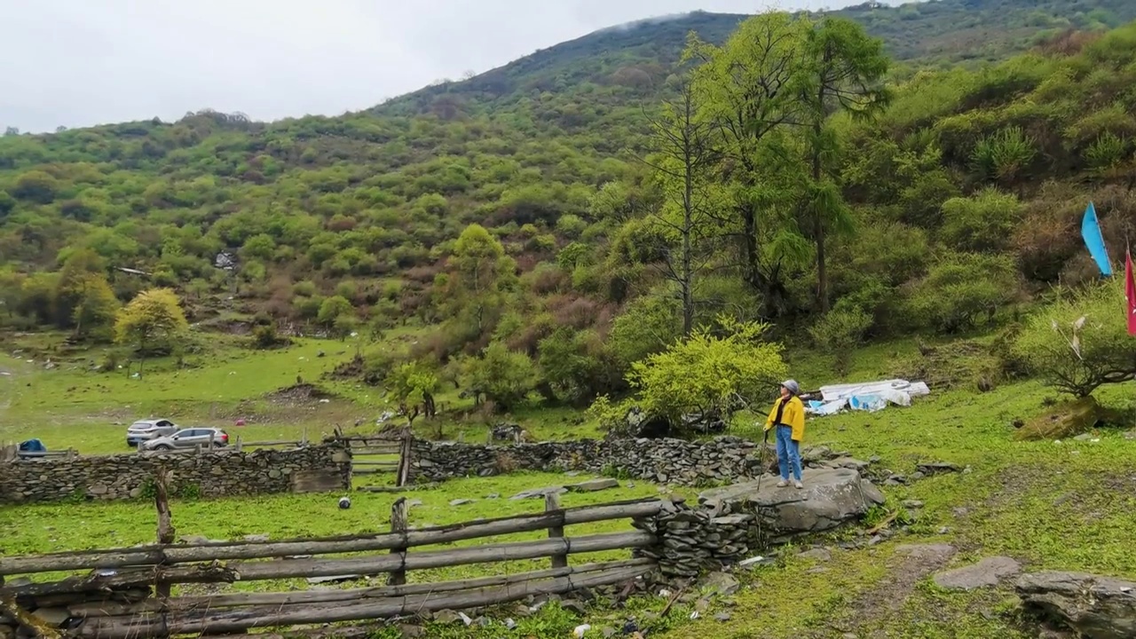
[[[760,482],[708,490],[699,496],[699,503],[732,513],[758,514],[775,542],[832,530],[884,503],[879,489],[852,468],[807,468],[802,479],[803,489],[793,484],[777,488],[779,478],[766,475]]]

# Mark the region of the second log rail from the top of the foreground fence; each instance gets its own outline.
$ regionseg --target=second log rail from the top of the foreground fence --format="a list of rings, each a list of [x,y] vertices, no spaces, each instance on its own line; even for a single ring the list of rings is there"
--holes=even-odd
[[[273,559],[266,562],[232,562],[227,565],[195,564],[190,566],[157,566],[153,569],[119,571],[110,574],[94,573],[85,579],[30,583],[5,588],[16,596],[53,595],[59,592],[90,592],[106,588],[139,587],[150,583],[232,583],[294,576],[335,576],[341,574],[375,575],[394,570],[428,570],[538,559],[556,554],[599,553],[646,548],[655,543],[653,534],[642,531],[594,534],[574,539],[543,539],[493,543],[469,548],[427,550],[394,555],[364,555],[345,559]]]

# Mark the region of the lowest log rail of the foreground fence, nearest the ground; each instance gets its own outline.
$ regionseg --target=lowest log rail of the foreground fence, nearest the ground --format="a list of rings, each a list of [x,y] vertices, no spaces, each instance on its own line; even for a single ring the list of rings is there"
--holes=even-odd
[[[203,609],[184,615],[168,613],[94,617],[85,620],[73,634],[99,639],[128,639],[167,634],[234,633],[253,628],[283,628],[412,615],[424,611],[463,609],[517,601],[531,596],[560,595],[633,580],[649,567],[625,567],[586,575],[567,575],[526,581],[506,587],[477,588],[456,592],[411,597],[366,599],[340,606],[307,604],[235,609]]]

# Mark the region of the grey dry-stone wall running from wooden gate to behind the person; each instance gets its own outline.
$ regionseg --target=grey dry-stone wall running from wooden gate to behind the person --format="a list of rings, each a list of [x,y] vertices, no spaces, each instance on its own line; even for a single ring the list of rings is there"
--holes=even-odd
[[[761,445],[736,437],[693,442],[682,439],[605,439],[484,446],[415,440],[411,478],[443,481],[511,471],[584,471],[676,486],[733,482],[760,474]],[[855,467],[867,463],[826,447],[802,451],[807,465]],[[772,446],[767,467],[776,464]]]

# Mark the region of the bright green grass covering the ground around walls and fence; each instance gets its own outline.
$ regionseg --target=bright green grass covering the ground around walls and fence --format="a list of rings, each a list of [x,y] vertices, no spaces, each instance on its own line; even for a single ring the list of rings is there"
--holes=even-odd
[[[319,351],[325,357],[318,357]],[[51,448],[76,447],[84,453],[123,450],[125,423],[139,416],[162,415],[182,423],[203,423],[215,415],[228,428],[241,416],[250,425],[228,428],[247,439],[309,438],[331,432],[335,425],[362,421],[371,429],[384,409],[381,395],[349,382],[321,380],[321,374],[351,357],[350,345],[300,341],[269,352],[225,351],[200,367],[176,370],[160,363],[141,380],[125,374],[84,372],[62,363],[44,370],[39,360],[0,359],[0,368],[12,373],[0,377],[0,439],[40,437]],[[899,363],[917,355],[913,343],[876,346],[858,355],[850,380],[879,379],[896,372]],[[961,357],[951,360],[953,372],[975,364]],[[807,388],[838,381],[827,373],[826,358],[793,354],[794,375]],[[978,364],[975,364],[976,366]],[[936,373],[936,371],[930,371]],[[937,374],[937,373],[936,373]],[[318,383],[335,395],[328,403],[285,403],[274,391],[295,383],[295,376]],[[27,385],[31,384],[31,385]],[[1136,400],[1133,385],[1102,389],[1103,404],[1131,414]],[[953,567],[980,557],[1009,555],[1026,570],[1071,570],[1136,578],[1131,531],[1136,529],[1136,439],[1124,430],[1099,431],[1086,440],[1025,442],[1014,439],[1014,422],[1042,414],[1056,395],[1036,383],[1014,383],[979,393],[964,379],[954,388],[934,388],[928,398],[910,408],[892,407],[876,414],[844,414],[813,418],[808,443],[827,443],[880,465],[910,473],[920,462],[952,462],[969,466],[966,473],[926,478],[907,487],[888,487],[888,508],[904,500],[924,506],[907,511],[913,521],[902,533],[880,543],[840,549],[835,542],[855,539],[845,531],[834,539],[818,540],[832,548],[829,561],[805,561],[782,553],[777,565],[743,572],[749,587],[729,601],[719,601],[690,620],[693,608],[680,604],[657,622],[655,637],[780,638],[780,637],[904,637],[969,638],[1030,637],[1022,630],[1017,599],[1009,587],[967,594],[945,592],[930,582],[935,570]],[[538,439],[592,435],[594,425],[579,423],[578,413],[558,408],[532,408],[509,416]],[[743,415],[735,431],[760,437],[753,426],[758,416]],[[116,425],[122,422],[123,425]],[[434,425],[419,421],[423,432]],[[444,434],[461,434],[468,441],[485,437],[485,424],[446,422]],[[1130,425],[1128,426],[1131,428]],[[350,429],[349,429],[350,430]],[[446,482],[408,497],[423,504],[411,509],[412,525],[446,524],[476,517],[534,512],[534,501],[510,501],[519,490],[565,481],[559,475],[518,474],[504,478]],[[626,482],[625,482],[626,483]],[[660,487],[634,482],[587,496],[565,496],[565,504],[609,501],[659,495]],[[680,491],[693,497],[695,491]],[[487,499],[499,493],[498,499]],[[335,506],[337,496],[273,496],[254,499],[176,501],[174,523],[178,534],[234,539],[245,534],[274,538],[334,534],[383,529],[395,496],[354,493],[350,511]],[[451,507],[457,498],[477,499]],[[580,525],[569,534],[619,530],[619,522]],[[899,529],[899,525],[893,526]],[[148,503],[60,504],[0,509],[0,553],[5,555],[130,545],[153,537],[154,514]],[[516,539],[540,533],[516,536]],[[950,543],[958,554],[942,565],[912,564],[900,550],[903,543]],[[604,554],[617,558],[620,554]],[[523,562],[503,570],[532,570]],[[500,566],[468,566],[449,571],[412,573],[412,581],[449,579]],[[251,586],[275,587],[279,584]],[[289,584],[290,587],[300,584]],[[243,584],[242,588],[248,588]],[[596,632],[618,626],[629,614],[658,611],[659,597],[632,603],[633,611],[596,611],[590,617]],[[713,614],[725,612],[728,621]],[[526,620],[532,637],[565,637],[579,620],[549,608]],[[498,637],[493,629],[431,629],[431,637]],[[392,634],[393,636],[393,634]],[[591,637],[592,634],[590,634]],[[384,634],[385,637],[385,634]]]

